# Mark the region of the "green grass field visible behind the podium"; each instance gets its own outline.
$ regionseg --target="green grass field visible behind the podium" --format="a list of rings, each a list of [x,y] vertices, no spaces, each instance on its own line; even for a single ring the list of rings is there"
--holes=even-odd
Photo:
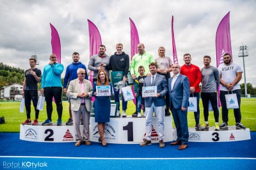
[[[122,105],[122,104],[121,104]],[[56,112],[56,105],[53,104],[53,112],[52,112],[52,121],[57,122],[58,115]],[[26,113],[20,113],[20,102],[0,102],[0,117],[4,117],[6,120],[5,124],[0,124],[0,132],[19,132],[20,124],[26,120]],[[122,110],[122,108],[121,108]],[[128,108],[127,108],[127,115],[132,115],[134,113],[135,108],[132,101],[129,101]],[[242,113],[242,123],[246,127],[250,128],[250,131],[256,131],[256,98],[242,98],[241,99],[241,113]],[[221,111],[220,111],[221,112]],[[63,115],[62,121],[63,124],[68,119],[68,102],[63,101]],[[228,125],[235,125],[235,118],[234,112],[232,110],[229,111],[228,114],[229,121]],[[33,104],[31,103],[31,119],[35,118],[35,111],[33,108]],[[46,109],[44,106],[44,111],[40,111],[39,113],[39,122],[44,122],[47,118]],[[209,112],[209,124],[210,126],[214,125],[214,116],[213,112]],[[200,123],[204,124],[204,113],[202,108],[202,100],[200,100]],[[220,113],[220,123],[221,120],[221,113]],[[173,123],[174,125],[174,123]],[[189,127],[195,126],[195,118],[194,113],[188,113],[188,125]]]

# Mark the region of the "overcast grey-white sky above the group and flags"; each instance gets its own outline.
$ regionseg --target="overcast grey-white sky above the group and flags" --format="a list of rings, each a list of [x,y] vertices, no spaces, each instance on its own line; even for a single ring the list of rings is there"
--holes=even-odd
[[[234,62],[243,68],[238,57],[239,46],[249,46],[245,57],[246,82],[256,85],[256,1],[14,1],[0,0],[0,62],[9,66],[29,68],[28,59],[34,53],[39,69],[49,62],[51,28],[60,35],[61,63],[66,68],[72,53],[80,53],[86,67],[89,61],[87,19],[99,29],[107,54],[115,52],[116,43],[124,44],[131,55],[130,22],[132,18],[145,50],[157,58],[159,46],[172,57],[172,15],[179,64],[183,54],[191,53],[192,63],[203,67],[204,55],[212,57],[216,66],[216,30],[221,19],[230,11],[230,34]],[[65,75],[63,71],[62,77]],[[243,79],[240,83],[244,82]]]

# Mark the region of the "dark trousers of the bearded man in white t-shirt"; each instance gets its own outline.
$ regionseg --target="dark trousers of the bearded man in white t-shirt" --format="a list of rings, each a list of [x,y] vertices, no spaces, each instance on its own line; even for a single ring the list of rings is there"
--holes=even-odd
[[[241,89],[233,90],[233,91],[220,91],[220,101],[221,101],[221,106],[222,106],[222,120],[223,122],[228,122],[228,109],[227,109],[227,103],[226,103],[226,98],[225,94],[236,94],[237,96],[237,103],[239,108],[234,109],[234,116],[236,118],[236,123],[241,122],[241,110],[240,110],[240,104],[241,104]]]

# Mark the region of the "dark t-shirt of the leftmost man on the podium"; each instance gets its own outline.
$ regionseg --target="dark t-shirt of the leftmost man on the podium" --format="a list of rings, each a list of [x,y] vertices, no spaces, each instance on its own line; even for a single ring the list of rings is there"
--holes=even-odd
[[[26,86],[24,90],[37,90],[37,81],[35,79],[35,77],[30,74],[30,70],[31,69],[27,69],[25,71],[25,78],[26,78]],[[41,70],[40,69],[33,69],[33,71],[35,71],[36,76],[40,77],[42,75]]]

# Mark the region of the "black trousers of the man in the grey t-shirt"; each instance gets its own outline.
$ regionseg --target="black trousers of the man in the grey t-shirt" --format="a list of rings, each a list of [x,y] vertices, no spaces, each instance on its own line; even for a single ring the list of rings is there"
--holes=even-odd
[[[212,110],[214,113],[215,122],[219,122],[219,110],[218,110],[218,101],[217,101],[217,93],[204,93],[201,92],[201,98],[204,106],[204,120],[205,122],[208,121],[209,117],[209,101],[212,104]]]

